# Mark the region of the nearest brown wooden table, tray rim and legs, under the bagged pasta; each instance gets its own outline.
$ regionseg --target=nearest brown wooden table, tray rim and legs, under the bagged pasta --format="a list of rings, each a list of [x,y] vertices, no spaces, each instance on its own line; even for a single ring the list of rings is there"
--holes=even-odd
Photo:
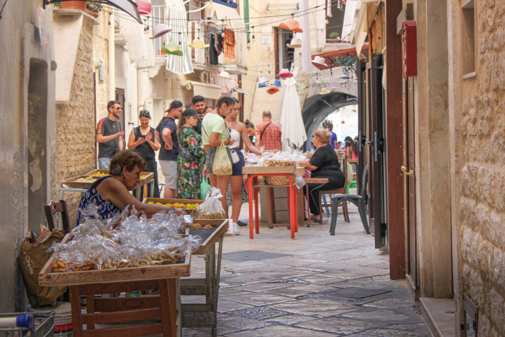
[[[68,242],[67,234],[62,243]],[[75,337],[125,337],[163,333],[180,336],[179,278],[189,276],[191,254],[184,263],[162,266],[53,272],[56,253],[40,270],[40,285],[69,285]],[[95,298],[94,295],[160,290],[159,296],[140,298]],[[80,296],[86,296],[86,313],[81,313]],[[161,323],[95,329],[95,324],[160,318]],[[83,330],[82,324],[86,324]]]

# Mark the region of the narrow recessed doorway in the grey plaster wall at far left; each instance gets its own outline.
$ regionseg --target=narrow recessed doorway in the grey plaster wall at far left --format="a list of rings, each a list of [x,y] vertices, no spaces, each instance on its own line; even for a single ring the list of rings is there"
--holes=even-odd
[[[28,78],[28,229],[39,231],[45,223],[43,205],[48,196],[47,183],[47,63],[30,60]]]

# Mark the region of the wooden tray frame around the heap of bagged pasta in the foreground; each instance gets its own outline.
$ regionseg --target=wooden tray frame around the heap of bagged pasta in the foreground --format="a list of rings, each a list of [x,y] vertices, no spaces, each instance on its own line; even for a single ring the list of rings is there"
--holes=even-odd
[[[71,234],[65,235],[62,243],[69,241]],[[68,273],[53,272],[53,260],[56,252],[47,260],[38,274],[39,285],[79,285],[93,283],[114,283],[118,281],[142,281],[189,276],[191,253],[186,253],[184,263],[163,266],[146,266],[132,268],[72,271]]]

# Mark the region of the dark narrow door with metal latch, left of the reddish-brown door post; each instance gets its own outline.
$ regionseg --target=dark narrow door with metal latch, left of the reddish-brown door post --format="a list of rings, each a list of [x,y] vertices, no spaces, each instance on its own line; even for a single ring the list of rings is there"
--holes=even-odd
[[[375,248],[386,244],[382,62],[382,55],[372,54],[366,79],[369,225],[375,234]]]

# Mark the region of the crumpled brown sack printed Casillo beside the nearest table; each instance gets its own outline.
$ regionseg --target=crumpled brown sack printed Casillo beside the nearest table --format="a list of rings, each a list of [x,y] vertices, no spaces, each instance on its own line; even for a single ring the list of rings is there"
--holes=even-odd
[[[37,238],[30,230],[21,244],[19,263],[26,294],[33,308],[53,304],[65,293],[67,286],[40,286],[38,285],[38,273],[53,254],[47,252],[54,242],[61,242],[63,231],[54,230],[47,235],[47,229],[41,226],[41,236]]]

